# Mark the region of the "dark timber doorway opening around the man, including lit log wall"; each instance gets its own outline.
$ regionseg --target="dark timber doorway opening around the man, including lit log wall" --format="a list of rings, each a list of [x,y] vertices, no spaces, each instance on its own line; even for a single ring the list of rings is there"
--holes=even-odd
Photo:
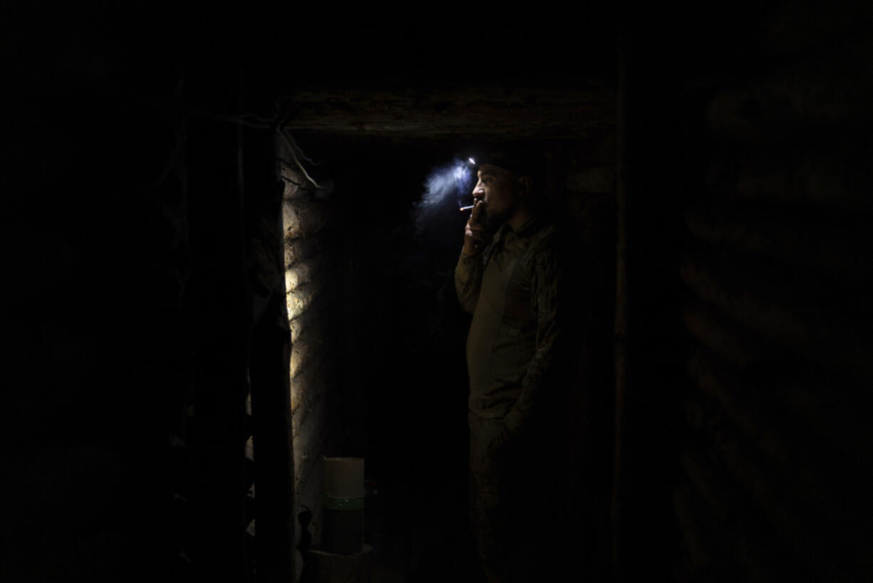
[[[435,168],[482,140],[400,134],[297,130],[312,161],[302,165],[318,187],[288,156],[279,161],[296,502],[313,511],[317,542],[322,457],[364,457],[365,538],[374,545],[375,580],[458,580],[463,573],[473,580],[464,351],[470,316],[454,290],[467,213],[458,212],[453,196],[427,212],[421,201]],[[553,473],[567,491],[586,491],[574,496],[567,523],[578,545],[594,550],[599,543],[582,538],[590,536],[595,506],[603,511],[595,517],[601,542],[608,540],[615,127],[485,138],[542,152],[544,194],[560,217],[567,256],[575,258],[567,270],[574,292],[568,327],[578,360],[567,381],[578,423],[567,434],[574,458]],[[541,502],[532,492],[531,510]]]

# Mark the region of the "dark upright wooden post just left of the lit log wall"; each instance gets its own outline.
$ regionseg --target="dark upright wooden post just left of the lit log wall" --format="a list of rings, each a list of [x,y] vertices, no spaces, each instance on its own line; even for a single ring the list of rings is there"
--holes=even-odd
[[[245,145],[247,253],[255,296],[249,375],[258,579],[287,583],[294,580],[294,463],[281,176],[274,134],[248,130]]]

